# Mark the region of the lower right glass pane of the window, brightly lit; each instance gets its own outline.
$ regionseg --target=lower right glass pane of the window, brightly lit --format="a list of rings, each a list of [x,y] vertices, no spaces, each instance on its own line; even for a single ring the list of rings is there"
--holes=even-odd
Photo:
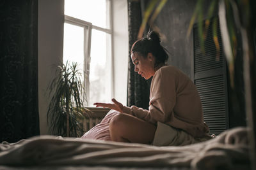
[[[108,103],[111,98],[110,35],[92,30],[90,62],[90,103]],[[109,47],[108,47],[109,46]]]

